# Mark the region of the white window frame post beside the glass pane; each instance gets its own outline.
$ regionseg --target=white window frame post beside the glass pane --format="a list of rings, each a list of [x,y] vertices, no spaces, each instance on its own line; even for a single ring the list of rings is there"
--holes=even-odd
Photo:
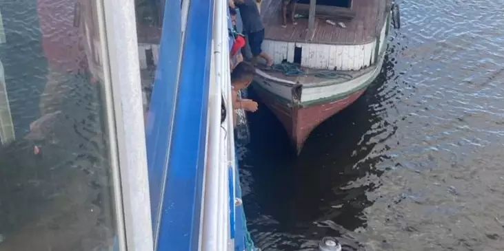
[[[119,250],[153,250],[134,0],[97,1]]]

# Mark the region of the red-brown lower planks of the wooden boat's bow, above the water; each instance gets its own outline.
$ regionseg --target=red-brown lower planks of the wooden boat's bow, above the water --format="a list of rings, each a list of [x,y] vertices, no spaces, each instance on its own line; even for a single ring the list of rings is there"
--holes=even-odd
[[[261,98],[261,101],[273,111],[276,118],[283,124],[298,154],[301,153],[305,140],[319,124],[351,105],[365,91],[365,89],[361,89],[338,100],[308,107],[289,107],[288,104],[281,102],[262,88],[255,88],[254,90]]]

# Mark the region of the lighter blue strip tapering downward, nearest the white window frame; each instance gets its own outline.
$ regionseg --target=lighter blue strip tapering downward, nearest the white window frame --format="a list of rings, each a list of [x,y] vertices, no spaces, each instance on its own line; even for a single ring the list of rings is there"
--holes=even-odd
[[[148,120],[145,124],[150,202],[154,236],[159,223],[159,208],[168,168],[174,100],[177,92],[179,51],[181,45],[181,0],[167,0],[163,25],[159,65],[157,67]]]

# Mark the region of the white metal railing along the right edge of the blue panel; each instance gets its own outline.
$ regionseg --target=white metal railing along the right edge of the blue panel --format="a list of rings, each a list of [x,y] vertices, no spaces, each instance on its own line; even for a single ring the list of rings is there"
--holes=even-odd
[[[228,2],[214,0],[208,157],[201,250],[234,250],[234,132],[231,107]],[[221,121],[221,105],[226,115]],[[222,122],[222,123],[221,123]],[[236,181],[237,182],[237,181]],[[238,183],[238,182],[237,182]],[[238,186],[238,184],[237,184]]]

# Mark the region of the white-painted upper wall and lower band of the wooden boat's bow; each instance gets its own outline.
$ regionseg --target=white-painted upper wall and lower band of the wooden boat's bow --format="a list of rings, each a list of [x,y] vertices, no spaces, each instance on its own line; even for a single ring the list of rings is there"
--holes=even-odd
[[[360,69],[363,74],[345,82],[341,82],[338,79],[334,80],[334,84],[327,82],[323,85],[316,85],[315,83],[304,84],[300,101],[301,103],[305,103],[330,99],[331,97],[337,98],[365,88],[380,73],[387,45],[387,25],[388,23],[384,23],[381,29],[381,36],[379,36],[381,39],[376,39],[373,43],[366,45],[320,45],[265,41],[263,47],[269,48],[265,51],[274,56],[274,63],[281,63],[283,60],[292,63],[294,61],[294,46],[302,46],[303,49],[308,47],[308,50],[303,50],[302,53],[302,67],[332,69],[336,65],[334,67],[340,67],[339,69]],[[379,54],[376,54],[376,48],[379,48]],[[376,55],[379,55],[378,58],[375,58]],[[376,60],[378,62],[375,62]],[[372,69],[366,69],[367,67],[372,67]],[[268,72],[264,72],[261,69],[257,69],[256,72],[255,80],[258,85],[266,91],[292,102],[292,88],[296,83],[291,80],[271,76]]]

